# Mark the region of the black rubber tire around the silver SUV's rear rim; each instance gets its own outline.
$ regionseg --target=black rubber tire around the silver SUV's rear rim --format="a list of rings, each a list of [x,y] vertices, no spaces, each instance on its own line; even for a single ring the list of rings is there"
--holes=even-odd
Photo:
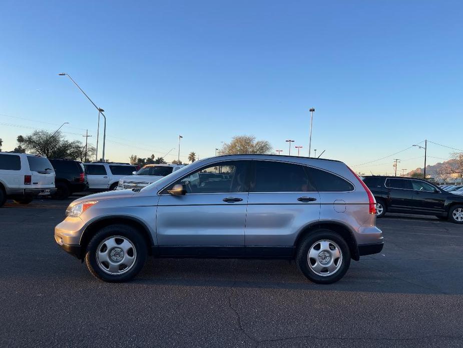
[[[339,268],[334,271],[331,275],[319,275],[315,273],[314,270],[309,266],[309,262],[312,262],[312,259],[309,261],[308,253],[312,246],[315,246],[317,242],[326,240],[331,241],[337,244],[337,247],[340,249],[340,258],[341,262]],[[330,244],[331,247],[331,244]],[[345,240],[338,235],[337,233],[327,230],[321,229],[317,230],[313,233],[306,235],[301,243],[299,244],[299,248],[296,254],[296,264],[301,270],[301,272],[312,282],[318,284],[331,284],[337,282],[341,279],[347,272],[350,266],[350,250],[349,246],[345,242]]]

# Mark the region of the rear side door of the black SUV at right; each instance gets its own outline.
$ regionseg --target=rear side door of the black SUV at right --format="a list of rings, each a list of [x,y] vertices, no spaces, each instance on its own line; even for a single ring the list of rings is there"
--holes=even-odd
[[[389,192],[390,212],[410,213],[413,207],[413,190],[408,179],[387,178],[384,182]]]

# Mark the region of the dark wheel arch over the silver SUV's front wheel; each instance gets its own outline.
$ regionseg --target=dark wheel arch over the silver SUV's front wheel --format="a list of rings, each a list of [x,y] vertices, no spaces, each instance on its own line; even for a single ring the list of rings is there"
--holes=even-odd
[[[92,237],[102,228],[110,226],[110,225],[128,225],[134,227],[138,231],[140,231],[141,235],[145,239],[148,254],[152,255],[152,250],[154,246],[153,236],[150,233],[150,230],[146,224],[136,218],[129,217],[129,216],[107,216],[96,221],[93,221],[90,225],[88,225],[84,232],[82,233],[81,239],[79,244],[81,245],[81,258],[85,253],[87,245],[89,244]]]

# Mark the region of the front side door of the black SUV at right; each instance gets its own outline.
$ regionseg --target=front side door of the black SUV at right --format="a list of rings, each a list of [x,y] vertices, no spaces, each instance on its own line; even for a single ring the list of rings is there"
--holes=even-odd
[[[411,180],[413,187],[413,212],[416,214],[438,214],[445,212],[448,195],[421,180]]]

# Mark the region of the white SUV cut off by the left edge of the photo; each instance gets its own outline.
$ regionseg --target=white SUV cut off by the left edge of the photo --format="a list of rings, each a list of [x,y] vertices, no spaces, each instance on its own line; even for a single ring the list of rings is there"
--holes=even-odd
[[[55,171],[47,157],[0,152],[0,207],[7,198],[28,204],[35,196],[55,192]]]

